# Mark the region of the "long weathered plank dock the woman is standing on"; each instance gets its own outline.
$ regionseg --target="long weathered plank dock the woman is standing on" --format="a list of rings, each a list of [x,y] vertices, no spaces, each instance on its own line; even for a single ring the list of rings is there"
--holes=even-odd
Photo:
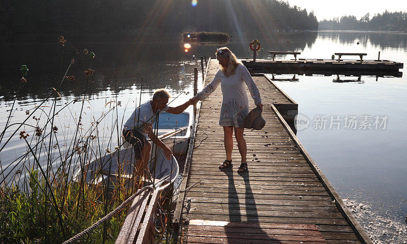
[[[210,59],[206,84],[218,69]],[[298,105],[266,76],[253,79],[266,126],[245,130],[248,173],[237,173],[236,140],[234,167],[218,169],[225,159],[220,87],[198,104],[173,219],[178,243],[372,243],[284,119]]]

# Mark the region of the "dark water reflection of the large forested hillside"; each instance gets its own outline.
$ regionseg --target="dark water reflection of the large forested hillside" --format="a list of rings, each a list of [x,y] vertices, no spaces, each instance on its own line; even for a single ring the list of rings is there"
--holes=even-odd
[[[249,42],[258,39],[263,51],[259,58],[268,57],[267,50],[303,50],[310,47],[316,40],[317,32],[295,33],[236,33],[232,34],[229,43],[191,44],[188,52],[184,51],[184,43],[180,37],[166,36],[166,42],[154,36],[143,36],[146,43],[123,42],[123,40],[140,40],[138,35],[109,37],[104,35],[67,36],[65,48],[57,43],[57,35],[45,39],[49,43],[3,44],[0,46],[0,101],[12,101],[18,91],[18,100],[43,99],[51,92],[52,87],[60,86],[70,60],[75,62],[67,75],[74,75],[75,81],[68,80],[60,88],[63,97],[83,95],[86,87],[84,71],[89,67],[95,70],[90,76],[87,94],[95,95],[107,87],[111,92],[120,92],[136,85],[139,88],[141,76],[144,77],[143,89],[152,90],[167,87],[176,91],[186,90],[192,85],[193,68],[200,71],[200,56],[214,56],[216,48],[227,46],[238,57],[248,57]],[[239,36],[239,37],[238,37]],[[241,38],[240,36],[244,37]],[[77,39],[76,39],[77,38]],[[81,42],[77,42],[77,40]],[[103,42],[106,41],[107,42]],[[82,42],[86,40],[88,42]],[[289,43],[286,41],[289,40]],[[53,43],[50,43],[53,42]],[[99,43],[101,42],[101,43]],[[95,58],[82,54],[86,48],[96,54]],[[64,52],[64,56],[63,56]],[[192,55],[196,56],[192,60]],[[63,58],[62,58],[63,57]],[[61,67],[62,64],[62,67]],[[25,76],[26,83],[21,83],[21,65],[27,65],[29,71]],[[114,69],[116,69],[116,81]],[[61,72],[60,72],[61,71]]]

